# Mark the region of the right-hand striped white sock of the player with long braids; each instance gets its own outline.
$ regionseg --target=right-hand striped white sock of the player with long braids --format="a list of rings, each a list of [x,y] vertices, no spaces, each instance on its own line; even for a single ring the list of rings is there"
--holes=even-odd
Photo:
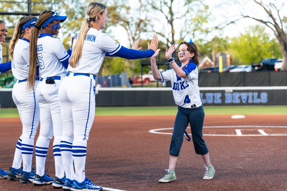
[[[55,176],[58,178],[63,178],[65,175],[65,169],[62,161],[62,156],[60,152],[60,142],[61,139],[57,139],[58,137],[55,137],[54,143],[53,143],[53,153],[55,158]]]

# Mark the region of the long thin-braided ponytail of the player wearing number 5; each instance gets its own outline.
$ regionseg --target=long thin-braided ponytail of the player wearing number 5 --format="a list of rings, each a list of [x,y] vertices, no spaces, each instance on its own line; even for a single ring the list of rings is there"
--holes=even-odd
[[[30,36],[30,59],[29,59],[29,73],[27,78],[27,90],[32,90],[35,85],[36,81],[36,72],[37,72],[37,40],[38,40],[38,33],[40,30],[40,25],[46,21],[52,14],[54,14],[53,11],[43,11],[38,20],[36,21],[35,26],[33,27],[31,31]]]

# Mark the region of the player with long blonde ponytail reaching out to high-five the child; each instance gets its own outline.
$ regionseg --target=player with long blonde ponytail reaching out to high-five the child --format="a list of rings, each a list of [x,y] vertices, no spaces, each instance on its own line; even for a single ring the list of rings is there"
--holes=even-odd
[[[154,37],[150,46],[154,50],[127,49],[99,31],[105,28],[106,21],[106,6],[90,3],[81,29],[75,36],[68,73],[59,90],[63,119],[60,149],[66,173],[64,190],[102,190],[101,186],[85,177],[85,163],[87,141],[95,115],[95,82],[105,55],[146,58],[154,54],[158,44],[157,37]]]

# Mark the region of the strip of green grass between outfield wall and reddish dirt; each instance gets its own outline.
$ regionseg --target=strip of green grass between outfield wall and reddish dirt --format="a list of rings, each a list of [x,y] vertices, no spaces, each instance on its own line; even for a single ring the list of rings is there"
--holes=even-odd
[[[204,106],[205,115],[287,114],[286,105],[276,106]],[[96,116],[104,115],[176,115],[172,107],[96,107]],[[1,117],[19,117],[16,108],[1,108]]]

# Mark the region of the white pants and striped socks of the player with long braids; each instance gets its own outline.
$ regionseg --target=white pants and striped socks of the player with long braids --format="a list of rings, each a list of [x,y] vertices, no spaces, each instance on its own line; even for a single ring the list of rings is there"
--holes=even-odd
[[[63,76],[61,76],[61,80]],[[60,153],[60,141],[63,133],[61,109],[58,91],[61,80],[54,80],[55,84],[46,84],[46,78],[38,83],[36,97],[40,107],[40,132],[36,142],[36,173],[44,175],[46,155],[49,141],[54,135],[53,153],[55,158],[55,172],[58,178],[64,177],[64,168]]]

